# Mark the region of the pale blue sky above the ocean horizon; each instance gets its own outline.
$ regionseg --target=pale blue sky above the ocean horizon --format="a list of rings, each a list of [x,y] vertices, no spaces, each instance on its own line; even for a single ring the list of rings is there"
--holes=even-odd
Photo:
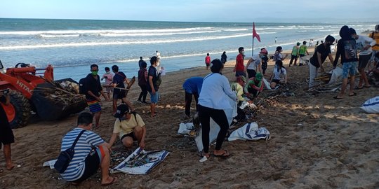
[[[379,22],[378,0],[1,0],[0,18],[182,22]]]

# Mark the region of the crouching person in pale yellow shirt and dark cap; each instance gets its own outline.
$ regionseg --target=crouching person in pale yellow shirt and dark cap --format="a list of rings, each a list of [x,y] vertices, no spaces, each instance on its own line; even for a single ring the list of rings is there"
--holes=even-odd
[[[133,147],[133,142],[138,141],[140,148],[145,148],[146,127],[138,113],[133,113],[128,105],[120,104],[117,106],[117,112],[114,114],[117,118],[114,122],[113,134],[109,145],[113,146],[114,141],[119,135],[121,143],[126,148]]]

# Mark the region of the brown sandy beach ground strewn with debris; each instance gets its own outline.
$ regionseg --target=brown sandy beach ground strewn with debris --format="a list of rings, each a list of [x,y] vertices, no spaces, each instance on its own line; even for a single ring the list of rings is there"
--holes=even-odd
[[[206,76],[210,71],[205,66],[162,78],[158,116],[154,118],[149,116],[148,104],[136,103],[140,88],[133,85],[128,99],[145,121],[146,150],[171,153],[147,175],[113,174],[119,180],[107,188],[379,188],[379,118],[359,108],[379,94],[378,88],[357,90],[357,96],[345,95],[343,100],[333,99],[336,92],[307,92],[303,89],[308,85],[308,66],[288,67],[288,57],[284,65],[289,84],[283,87],[294,96],[265,100],[272,96],[272,91],[265,90],[255,101],[265,103],[248,120],[266,127],[271,139],[225,141],[222,147],[232,153],[226,160],[212,157],[199,162],[194,141],[177,134],[185,111],[182,83],[192,76]],[[328,71],[331,63],[327,61]],[[234,63],[227,62],[223,71],[230,82],[235,79]],[[273,65],[269,62],[269,74]],[[149,95],[147,98],[149,101]],[[194,103],[192,108],[195,113]],[[100,127],[94,132],[109,141],[115,119],[112,104],[102,102],[102,109]],[[0,155],[0,188],[101,188],[100,171],[76,187],[60,179],[54,169],[42,167],[58,156],[60,139],[76,127],[76,122],[77,115],[54,122],[34,118],[26,127],[13,130],[12,158],[19,166],[6,170],[4,155]],[[126,151],[120,143],[113,150]]]

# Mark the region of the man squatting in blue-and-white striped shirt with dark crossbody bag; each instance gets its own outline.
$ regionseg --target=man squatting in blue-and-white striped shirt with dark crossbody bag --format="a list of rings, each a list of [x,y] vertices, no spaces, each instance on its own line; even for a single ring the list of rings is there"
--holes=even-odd
[[[74,157],[65,172],[60,174],[65,181],[78,185],[82,181],[98,172],[101,168],[101,186],[108,186],[116,181],[116,177],[109,176],[110,148],[98,134],[92,132],[93,116],[84,112],[78,116],[77,127],[69,131],[62,139],[60,151],[65,151],[72,146],[75,139],[79,137],[74,146]]]

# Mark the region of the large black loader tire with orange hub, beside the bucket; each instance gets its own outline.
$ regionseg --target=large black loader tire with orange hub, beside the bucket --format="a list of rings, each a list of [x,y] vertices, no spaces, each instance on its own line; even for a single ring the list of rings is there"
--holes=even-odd
[[[8,105],[8,108],[4,109],[7,116],[8,112],[13,112],[11,119],[10,116],[8,116],[9,125],[12,129],[24,127],[27,125],[31,116],[32,107],[30,106],[30,102],[20,92],[11,91],[10,95],[11,104]]]

